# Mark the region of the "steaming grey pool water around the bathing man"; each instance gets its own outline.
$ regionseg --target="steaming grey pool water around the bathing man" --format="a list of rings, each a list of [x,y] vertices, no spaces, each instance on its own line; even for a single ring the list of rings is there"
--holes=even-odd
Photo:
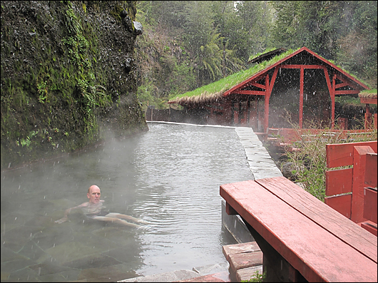
[[[147,133],[1,173],[1,279],[114,281],[226,262],[219,186],[252,179],[234,128],[149,123]],[[63,210],[101,187],[145,229]]]

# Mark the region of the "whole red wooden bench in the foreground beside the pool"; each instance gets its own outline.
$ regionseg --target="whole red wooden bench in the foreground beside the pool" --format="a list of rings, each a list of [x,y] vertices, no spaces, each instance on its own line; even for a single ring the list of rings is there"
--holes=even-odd
[[[220,185],[263,253],[267,282],[377,282],[377,237],[285,177]]]

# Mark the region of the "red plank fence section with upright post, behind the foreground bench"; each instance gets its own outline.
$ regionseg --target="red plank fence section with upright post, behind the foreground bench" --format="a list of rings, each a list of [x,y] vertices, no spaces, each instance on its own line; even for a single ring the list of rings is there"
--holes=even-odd
[[[325,203],[377,236],[377,141],[326,145]],[[365,188],[367,187],[367,188]]]

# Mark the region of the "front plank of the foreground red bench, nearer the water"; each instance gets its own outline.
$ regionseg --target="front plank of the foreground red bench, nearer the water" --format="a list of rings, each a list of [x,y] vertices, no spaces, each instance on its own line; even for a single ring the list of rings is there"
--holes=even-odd
[[[345,245],[257,182],[221,185],[220,195],[308,281],[377,281],[377,262]],[[308,199],[302,194],[295,198]],[[312,208],[316,212],[317,207]],[[330,217],[333,215],[339,214],[332,210]],[[363,230],[356,226],[353,230]]]

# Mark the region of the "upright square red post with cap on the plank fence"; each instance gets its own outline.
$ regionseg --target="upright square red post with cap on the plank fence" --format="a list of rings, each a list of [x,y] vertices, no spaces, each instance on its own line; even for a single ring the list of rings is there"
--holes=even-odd
[[[367,220],[364,218],[364,180],[367,153],[374,153],[374,151],[367,145],[354,146],[352,216],[350,220],[356,223]]]

